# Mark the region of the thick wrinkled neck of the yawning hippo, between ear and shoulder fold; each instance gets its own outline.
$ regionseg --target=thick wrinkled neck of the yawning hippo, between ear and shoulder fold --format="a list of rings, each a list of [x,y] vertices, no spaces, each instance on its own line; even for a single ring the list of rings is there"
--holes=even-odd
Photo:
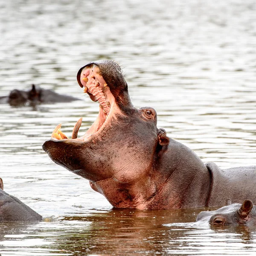
[[[182,160],[184,156],[186,161]],[[157,166],[163,167],[157,170]],[[158,153],[154,169],[160,172],[160,180],[157,182],[160,185],[157,195],[151,199],[150,208],[154,209],[154,205],[162,205],[163,209],[206,205],[211,175],[191,149],[171,139],[169,145]],[[170,193],[166,193],[167,191]],[[164,198],[164,194],[168,198]]]

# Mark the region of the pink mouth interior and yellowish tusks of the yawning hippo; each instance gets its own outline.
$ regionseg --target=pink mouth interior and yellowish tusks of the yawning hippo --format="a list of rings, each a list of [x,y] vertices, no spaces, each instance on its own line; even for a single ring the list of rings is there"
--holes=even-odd
[[[116,62],[113,61],[106,61],[107,66],[108,65],[114,65],[116,66]],[[105,74],[104,78],[102,76],[102,73],[106,73],[104,71],[106,68],[105,61],[97,61],[93,62],[90,64],[87,64],[86,66],[82,67],[77,75],[78,83],[80,87],[84,88],[84,93],[89,94],[90,98],[93,101],[98,101],[99,102],[99,115],[96,118],[95,122],[93,125],[88,129],[88,131],[82,136],[79,137],[80,140],[89,140],[92,138],[92,135],[100,133],[100,131],[108,125],[110,119],[113,119],[116,113],[123,114],[121,113],[122,111],[120,110],[120,105],[117,104],[117,100],[114,96],[114,92],[117,90],[122,90],[122,87],[124,86],[124,83],[120,83],[119,87],[113,87],[113,84],[115,82],[108,84],[105,79],[108,79],[107,81],[114,81],[116,79],[116,76],[122,76],[120,74],[120,67],[118,70],[118,74],[116,76],[113,76],[113,69],[111,70],[112,73],[108,74],[108,76]],[[102,65],[104,68],[102,68]],[[112,79],[110,78],[112,76]],[[123,77],[123,76],[122,76]],[[119,80],[119,79],[117,79]],[[126,82],[125,85],[127,86]],[[112,89],[111,89],[112,88]],[[128,93],[128,91],[127,91]],[[119,96],[122,96],[122,93],[119,93]],[[129,97],[128,97],[128,102]],[[129,106],[129,104],[128,104]],[[132,105],[131,105],[132,106]],[[73,133],[72,133],[72,139],[77,138],[78,130],[81,126],[82,119],[80,118],[77,122],[76,125],[73,128]],[[57,125],[57,127],[54,129],[52,132],[52,138],[55,138],[57,140],[64,140],[68,139],[68,137],[61,132],[61,124]]]

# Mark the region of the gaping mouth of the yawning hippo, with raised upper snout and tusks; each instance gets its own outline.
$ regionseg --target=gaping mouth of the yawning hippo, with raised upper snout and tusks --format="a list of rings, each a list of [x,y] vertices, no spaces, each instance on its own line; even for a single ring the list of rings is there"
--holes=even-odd
[[[108,126],[109,121],[116,114],[122,114],[122,111],[132,108],[122,70],[114,61],[95,61],[81,67],[77,74],[77,81],[91,100],[99,102],[99,115],[87,132],[77,138],[82,122],[82,118],[80,118],[73,128],[71,139],[89,140],[92,135]],[[61,124],[57,125],[52,132],[52,138],[69,139],[61,131]]]

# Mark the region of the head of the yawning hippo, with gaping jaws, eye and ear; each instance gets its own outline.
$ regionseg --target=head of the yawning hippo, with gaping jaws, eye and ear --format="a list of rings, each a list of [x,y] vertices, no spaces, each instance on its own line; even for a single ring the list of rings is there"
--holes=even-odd
[[[114,61],[87,64],[77,80],[90,99],[99,102],[99,115],[79,138],[81,119],[71,139],[58,125],[43,149],[55,163],[90,180],[113,206],[144,209],[139,204],[155,193],[154,159],[169,143],[166,132],[157,128],[156,111],[132,105],[122,70]],[[139,188],[141,193],[135,192]]]

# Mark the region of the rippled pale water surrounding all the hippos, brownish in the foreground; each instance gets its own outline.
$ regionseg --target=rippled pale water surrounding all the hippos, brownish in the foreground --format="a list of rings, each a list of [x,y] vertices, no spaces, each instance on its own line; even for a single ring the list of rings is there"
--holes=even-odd
[[[256,230],[193,224],[201,209],[113,209],[41,145],[62,123],[82,135],[98,104],[76,82],[97,59],[122,65],[132,102],[204,162],[256,164],[256,3],[253,0],[0,0],[0,96],[34,83],[82,99],[0,105],[6,192],[55,221],[0,224],[4,255],[254,255]]]

